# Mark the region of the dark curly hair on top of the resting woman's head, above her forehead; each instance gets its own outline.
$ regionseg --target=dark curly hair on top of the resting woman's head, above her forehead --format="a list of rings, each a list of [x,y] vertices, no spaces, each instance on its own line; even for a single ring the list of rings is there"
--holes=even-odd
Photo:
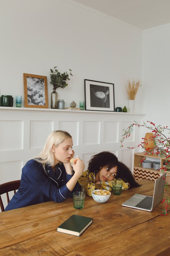
[[[103,151],[91,157],[88,162],[88,170],[89,172],[98,172],[104,166],[107,166],[110,170],[117,165],[117,157],[111,152]]]

